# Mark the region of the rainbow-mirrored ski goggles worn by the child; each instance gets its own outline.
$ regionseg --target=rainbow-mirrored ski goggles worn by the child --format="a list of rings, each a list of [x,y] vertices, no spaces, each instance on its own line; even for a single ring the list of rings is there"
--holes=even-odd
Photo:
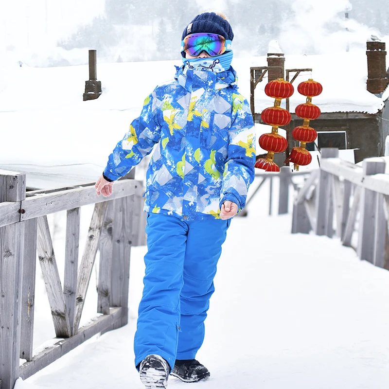
[[[181,45],[181,52],[196,56],[206,52],[212,57],[231,50],[232,42],[224,36],[208,33],[198,33],[185,36]]]

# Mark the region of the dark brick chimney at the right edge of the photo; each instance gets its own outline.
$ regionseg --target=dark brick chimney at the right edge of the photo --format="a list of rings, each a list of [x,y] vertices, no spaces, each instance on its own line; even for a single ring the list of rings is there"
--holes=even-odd
[[[367,89],[374,94],[382,93],[389,84],[386,69],[385,42],[367,41],[368,80]]]

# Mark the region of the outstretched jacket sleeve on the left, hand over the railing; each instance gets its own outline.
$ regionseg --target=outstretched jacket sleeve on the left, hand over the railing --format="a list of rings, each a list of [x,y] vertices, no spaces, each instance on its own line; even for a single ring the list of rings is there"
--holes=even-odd
[[[112,181],[125,176],[143,157],[151,153],[159,142],[160,131],[154,90],[144,101],[139,118],[130,124],[128,132],[108,157],[103,175]]]

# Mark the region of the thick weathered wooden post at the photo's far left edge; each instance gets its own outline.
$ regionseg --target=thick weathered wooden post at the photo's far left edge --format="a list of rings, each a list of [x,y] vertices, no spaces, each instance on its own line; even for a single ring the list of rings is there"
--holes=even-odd
[[[26,198],[24,174],[0,175],[0,203]],[[0,228],[0,380],[13,388],[19,376],[24,223]]]

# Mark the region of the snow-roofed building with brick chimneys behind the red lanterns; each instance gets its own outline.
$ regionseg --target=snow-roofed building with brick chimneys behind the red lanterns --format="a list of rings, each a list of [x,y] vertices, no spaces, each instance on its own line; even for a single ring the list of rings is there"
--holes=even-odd
[[[310,123],[318,131],[319,149],[354,149],[355,162],[389,153],[385,150],[389,135],[389,80],[384,42],[368,41],[366,52],[310,56],[284,56],[272,42],[267,65],[250,69],[251,107],[256,123],[262,123],[262,110],[273,105],[274,100],[264,92],[266,83],[283,77],[293,80],[295,87],[288,104],[283,100],[282,105],[287,109],[289,106],[292,114],[288,129],[301,125],[302,119],[294,110],[305,102],[305,96],[300,95],[297,86],[313,78],[323,86],[323,92],[312,101],[320,108],[321,116]],[[297,142],[289,139],[290,149],[295,145]],[[315,144],[308,144],[307,148],[314,150]],[[277,162],[282,158],[279,156]]]

